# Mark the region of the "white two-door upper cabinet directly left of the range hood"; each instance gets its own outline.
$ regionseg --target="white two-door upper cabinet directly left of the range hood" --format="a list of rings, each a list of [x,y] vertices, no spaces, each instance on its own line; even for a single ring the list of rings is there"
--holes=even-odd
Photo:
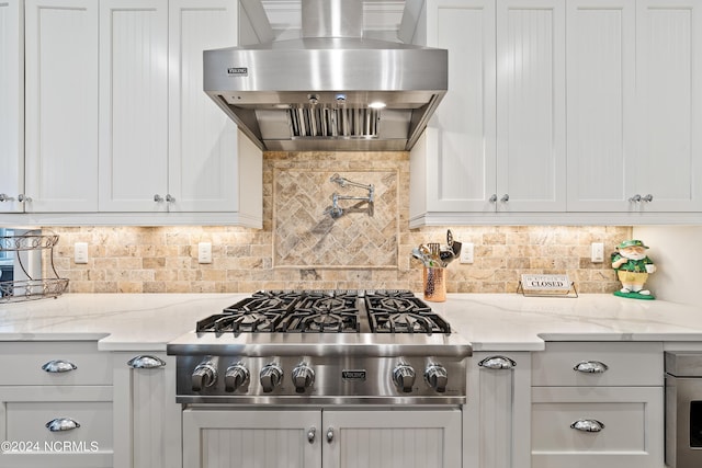
[[[203,92],[237,44],[234,0],[101,0],[100,210],[262,220],[262,158]]]

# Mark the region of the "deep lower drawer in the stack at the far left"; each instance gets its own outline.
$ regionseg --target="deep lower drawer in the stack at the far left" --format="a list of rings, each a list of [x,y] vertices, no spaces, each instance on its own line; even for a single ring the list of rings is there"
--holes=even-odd
[[[113,466],[112,387],[0,387],[0,467]]]

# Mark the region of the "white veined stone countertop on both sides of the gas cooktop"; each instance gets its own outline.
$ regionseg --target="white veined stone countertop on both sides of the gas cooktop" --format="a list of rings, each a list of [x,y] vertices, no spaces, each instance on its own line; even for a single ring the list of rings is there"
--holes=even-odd
[[[197,320],[249,295],[67,294],[0,304],[0,341],[99,340],[105,351],[166,351]],[[474,351],[537,351],[544,341],[702,343],[702,306],[604,294],[449,294],[428,304]]]

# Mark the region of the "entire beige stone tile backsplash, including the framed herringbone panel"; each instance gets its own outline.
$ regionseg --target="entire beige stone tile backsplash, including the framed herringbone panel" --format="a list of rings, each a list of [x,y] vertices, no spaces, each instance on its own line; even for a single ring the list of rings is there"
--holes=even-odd
[[[567,273],[580,293],[619,287],[609,252],[631,227],[408,228],[407,152],[267,152],[263,229],[228,226],[47,227],[60,236],[54,264],[71,293],[250,293],[292,288],[409,288],[422,290],[412,248],[454,238],[475,246],[475,262],[448,267],[449,293],[513,293],[523,273]],[[372,213],[342,201],[325,212],[333,192],[367,191],[330,182],[340,174],[373,184]],[[212,242],[212,263],[197,262],[197,243]],[[87,264],[73,262],[75,242],[88,242]],[[590,243],[604,242],[605,261],[590,261]]]

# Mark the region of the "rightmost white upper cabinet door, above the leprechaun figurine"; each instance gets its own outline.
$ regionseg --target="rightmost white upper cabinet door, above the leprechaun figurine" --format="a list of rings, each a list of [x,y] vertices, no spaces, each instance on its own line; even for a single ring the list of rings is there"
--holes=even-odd
[[[637,146],[631,171],[648,212],[702,210],[702,3],[638,0]]]

